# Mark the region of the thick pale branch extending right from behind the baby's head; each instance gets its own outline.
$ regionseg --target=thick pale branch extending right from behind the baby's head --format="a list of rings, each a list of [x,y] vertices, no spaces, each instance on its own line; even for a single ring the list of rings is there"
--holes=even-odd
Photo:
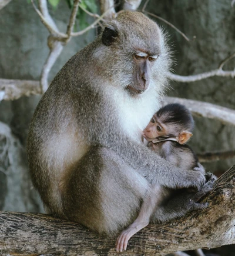
[[[165,97],[164,105],[169,103],[179,103],[185,105],[197,117],[206,117],[210,119],[216,119],[223,124],[235,125],[235,110],[230,108],[224,108],[219,105],[194,101],[192,99]]]

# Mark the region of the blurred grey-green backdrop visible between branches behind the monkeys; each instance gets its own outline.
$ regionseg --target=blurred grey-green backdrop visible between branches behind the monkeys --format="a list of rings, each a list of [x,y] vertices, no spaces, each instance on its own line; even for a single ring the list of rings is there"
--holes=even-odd
[[[99,2],[83,1],[84,8],[99,14]],[[231,0],[150,0],[146,11],[164,18],[187,35],[186,41],[166,22],[150,18],[169,34],[169,45],[175,60],[174,72],[178,75],[194,75],[219,67],[227,56],[235,51],[235,6]],[[66,31],[70,16],[69,0],[49,1],[49,12],[59,31]],[[118,4],[118,3],[117,3]],[[140,9],[145,4],[142,1]],[[79,9],[75,30],[81,30],[95,21]],[[63,48],[49,73],[48,81],[79,49],[93,41],[99,28],[90,29],[73,37]],[[30,1],[10,1],[0,10],[0,78],[39,81],[43,64],[49,53],[49,32],[42,24]],[[233,70],[235,59],[224,65]],[[0,84],[1,88],[1,84]],[[1,89],[0,89],[1,94]],[[235,109],[235,79],[212,77],[196,82],[170,83],[167,95],[210,102]],[[28,173],[25,152],[26,137],[33,111],[40,95],[0,101],[0,210],[43,212],[41,200],[33,189]],[[213,119],[194,117],[195,129],[190,146],[197,153],[235,150],[235,129]],[[217,176],[223,174],[235,162],[226,160],[203,163],[207,171]],[[235,255],[235,247],[227,246],[211,250],[218,255]],[[210,252],[204,251],[209,255]],[[189,252],[191,253],[191,252]],[[192,252],[193,255],[193,252]]]

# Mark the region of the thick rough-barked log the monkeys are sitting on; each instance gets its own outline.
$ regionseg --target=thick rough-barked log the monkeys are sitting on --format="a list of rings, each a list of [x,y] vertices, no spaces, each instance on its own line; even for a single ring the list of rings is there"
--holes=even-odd
[[[165,255],[174,251],[215,248],[235,243],[235,165],[193,211],[167,224],[148,225],[134,235],[122,255]],[[0,212],[0,254],[120,255],[116,236],[105,237],[82,225],[46,214]]]

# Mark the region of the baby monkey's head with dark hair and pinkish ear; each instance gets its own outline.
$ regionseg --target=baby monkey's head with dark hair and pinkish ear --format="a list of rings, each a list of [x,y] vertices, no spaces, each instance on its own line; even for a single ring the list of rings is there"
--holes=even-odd
[[[194,121],[189,109],[177,103],[168,104],[153,115],[143,136],[153,143],[175,139],[184,144],[193,135],[193,127]]]

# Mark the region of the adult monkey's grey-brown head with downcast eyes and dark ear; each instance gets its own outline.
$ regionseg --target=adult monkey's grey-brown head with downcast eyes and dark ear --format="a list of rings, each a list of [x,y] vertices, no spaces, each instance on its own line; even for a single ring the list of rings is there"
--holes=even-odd
[[[149,88],[163,91],[169,69],[169,50],[162,30],[140,12],[124,11],[108,22],[100,35],[105,71],[131,95]],[[103,67],[105,68],[105,67]]]

